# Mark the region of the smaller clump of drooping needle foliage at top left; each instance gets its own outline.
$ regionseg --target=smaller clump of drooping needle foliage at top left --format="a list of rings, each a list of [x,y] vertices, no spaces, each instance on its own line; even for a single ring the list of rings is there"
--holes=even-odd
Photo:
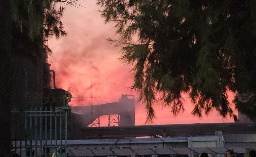
[[[17,29],[31,42],[44,42],[46,52],[52,53],[45,41],[49,37],[66,36],[61,22],[65,7],[80,6],[78,0],[10,0],[11,17]],[[59,9],[56,5],[59,4]]]

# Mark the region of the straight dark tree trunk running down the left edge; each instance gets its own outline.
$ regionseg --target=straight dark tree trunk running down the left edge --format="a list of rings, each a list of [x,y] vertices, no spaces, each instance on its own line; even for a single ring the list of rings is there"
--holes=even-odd
[[[9,0],[0,0],[0,156],[11,152],[11,9]]]

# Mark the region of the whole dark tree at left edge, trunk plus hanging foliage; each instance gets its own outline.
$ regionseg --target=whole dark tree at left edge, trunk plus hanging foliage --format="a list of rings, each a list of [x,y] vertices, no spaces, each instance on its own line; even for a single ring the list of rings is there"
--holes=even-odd
[[[64,7],[58,10],[55,3],[79,6],[77,1],[0,0],[0,154],[3,157],[9,157],[11,152],[11,100],[15,97],[13,93],[19,92],[14,87],[19,84],[16,74],[19,59],[22,56],[33,61],[42,53],[51,53],[44,39],[66,35],[60,21]]]

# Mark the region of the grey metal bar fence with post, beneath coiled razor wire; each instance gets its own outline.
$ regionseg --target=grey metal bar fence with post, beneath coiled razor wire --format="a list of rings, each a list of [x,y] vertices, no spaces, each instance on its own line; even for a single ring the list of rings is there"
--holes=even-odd
[[[67,117],[72,95],[65,92],[65,98],[66,105],[62,107],[15,108],[11,111],[12,156],[68,156]]]

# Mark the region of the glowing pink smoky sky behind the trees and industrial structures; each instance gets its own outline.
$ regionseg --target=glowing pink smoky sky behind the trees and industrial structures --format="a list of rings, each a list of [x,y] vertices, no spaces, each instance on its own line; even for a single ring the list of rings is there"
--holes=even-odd
[[[96,0],[79,1],[84,7],[66,6],[62,22],[68,35],[59,40],[49,40],[53,55],[49,56],[51,69],[56,72],[56,86],[69,91],[72,98],[70,105],[82,106],[116,102],[121,94],[133,94],[132,66],[121,62],[118,49],[107,42],[107,38],[115,37],[112,24],[104,24],[104,19],[97,11]],[[92,88],[91,88],[92,84]],[[77,98],[77,97],[111,97],[111,98]],[[230,102],[232,94],[229,94]],[[137,99],[135,99],[137,100]],[[216,112],[207,117],[194,117],[190,113],[192,105],[186,98],[186,111],[173,117],[169,108],[156,105],[154,124],[189,124],[189,123],[220,123],[224,120]],[[234,106],[232,107],[234,108]],[[235,113],[237,111],[235,110]],[[143,104],[135,104],[135,123],[143,125],[146,112]],[[106,116],[100,117],[101,126],[107,125]],[[225,122],[233,122],[227,117]]]

